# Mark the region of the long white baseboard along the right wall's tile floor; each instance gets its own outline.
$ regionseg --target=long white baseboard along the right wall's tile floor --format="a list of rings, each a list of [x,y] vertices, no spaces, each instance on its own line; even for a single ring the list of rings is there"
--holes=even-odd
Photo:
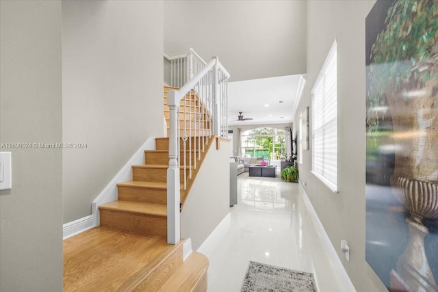
[[[302,194],[302,199],[304,200],[307,210],[309,211],[310,218],[313,222],[313,225],[316,228],[316,231],[322,238],[322,242],[327,247],[327,251],[329,253],[329,257],[331,258],[331,262],[335,265],[336,270],[341,274],[342,280],[344,280],[344,285],[348,287],[348,291],[356,292],[355,286],[353,286],[353,283],[350,280],[350,277],[348,277],[347,271],[345,270],[344,265],[342,265],[341,260],[339,259],[339,256],[337,256],[335,247],[331,243],[331,240],[329,238],[329,235],[327,235],[326,230],[324,229],[324,226],[322,226],[322,223],[320,221],[320,218],[318,217],[318,214],[316,213],[315,209],[313,209],[313,205],[309,200],[309,196],[307,196],[307,193],[305,191],[305,188],[302,187],[301,181],[298,181],[298,185],[300,187],[300,191]]]

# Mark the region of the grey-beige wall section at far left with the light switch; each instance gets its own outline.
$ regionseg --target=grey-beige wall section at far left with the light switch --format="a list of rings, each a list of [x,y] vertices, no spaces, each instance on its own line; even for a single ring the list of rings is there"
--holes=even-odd
[[[0,144],[62,142],[61,29],[60,1],[0,1]],[[0,291],[62,291],[62,150],[0,150]]]

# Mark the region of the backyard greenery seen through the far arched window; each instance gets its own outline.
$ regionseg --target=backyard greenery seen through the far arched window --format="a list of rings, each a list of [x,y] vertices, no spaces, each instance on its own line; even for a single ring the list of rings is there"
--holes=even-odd
[[[257,128],[242,132],[242,156],[264,159],[285,157],[285,131],[275,128]]]

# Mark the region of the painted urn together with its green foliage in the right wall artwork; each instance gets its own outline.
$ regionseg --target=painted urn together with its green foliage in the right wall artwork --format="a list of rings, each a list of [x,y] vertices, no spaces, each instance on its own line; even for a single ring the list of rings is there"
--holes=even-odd
[[[368,98],[374,107],[385,98],[394,127],[391,188],[410,213],[396,274],[404,287],[436,292],[423,219],[438,218],[438,1],[394,1],[385,24],[372,47]],[[378,117],[369,116],[372,131]]]

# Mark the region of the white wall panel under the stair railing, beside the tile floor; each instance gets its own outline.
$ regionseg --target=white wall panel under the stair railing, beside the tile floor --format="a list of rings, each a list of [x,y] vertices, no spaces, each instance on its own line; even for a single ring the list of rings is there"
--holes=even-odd
[[[199,248],[229,213],[229,148],[229,142],[220,140],[220,149],[216,150],[216,142],[213,142],[185,199],[181,237],[192,239],[193,250]]]

